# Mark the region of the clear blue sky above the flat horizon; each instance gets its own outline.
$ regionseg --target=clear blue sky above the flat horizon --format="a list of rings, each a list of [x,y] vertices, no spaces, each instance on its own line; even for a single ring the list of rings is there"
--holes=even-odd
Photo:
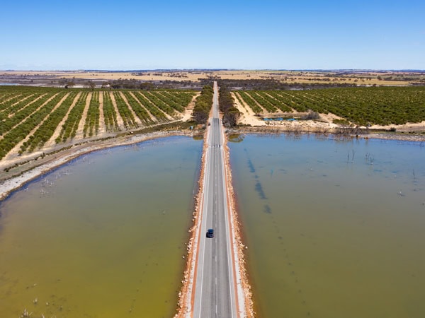
[[[425,69],[425,1],[4,1],[0,69]]]

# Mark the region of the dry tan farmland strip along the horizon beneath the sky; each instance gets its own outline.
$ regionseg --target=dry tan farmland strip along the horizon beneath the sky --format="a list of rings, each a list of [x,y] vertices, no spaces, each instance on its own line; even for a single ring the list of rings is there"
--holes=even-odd
[[[273,70],[220,70],[220,71],[0,71],[4,78],[81,78],[86,81],[113,81],[136,79],[140,81],[199,81],[208,78],[229,80],[274,79],[283,83],[352,84],[356,86],[407,86],[425,84],[425,73],[400,71],[273,71]]]

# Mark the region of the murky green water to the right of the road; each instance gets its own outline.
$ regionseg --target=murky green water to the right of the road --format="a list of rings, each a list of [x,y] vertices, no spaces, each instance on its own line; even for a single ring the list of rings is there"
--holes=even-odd
[[[258,317],[425,317],[423,144],[229,147]]]

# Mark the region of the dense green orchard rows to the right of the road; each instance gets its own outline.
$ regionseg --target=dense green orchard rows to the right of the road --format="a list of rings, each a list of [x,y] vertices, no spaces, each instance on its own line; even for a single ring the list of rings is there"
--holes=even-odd
[[[332,113],[362,126],[406,124],[425,120],[424,87],[238,91],[235,95],[257,114],[264,113],[261,107],[269,112],[273,105],[285,112],[311,110],[323,114]]]

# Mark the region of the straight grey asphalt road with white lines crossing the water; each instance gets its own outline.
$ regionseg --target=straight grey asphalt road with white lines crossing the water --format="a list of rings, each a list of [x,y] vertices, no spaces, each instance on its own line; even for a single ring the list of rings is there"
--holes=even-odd
[[[198,268],[193,317],[237,317],[235,278],[227,211],[222,122],[218,112],[217,83],[214,83],[212,118],[208,126],[203,213],[200,223]],[[208,228],[213,238],[206,237]]]

